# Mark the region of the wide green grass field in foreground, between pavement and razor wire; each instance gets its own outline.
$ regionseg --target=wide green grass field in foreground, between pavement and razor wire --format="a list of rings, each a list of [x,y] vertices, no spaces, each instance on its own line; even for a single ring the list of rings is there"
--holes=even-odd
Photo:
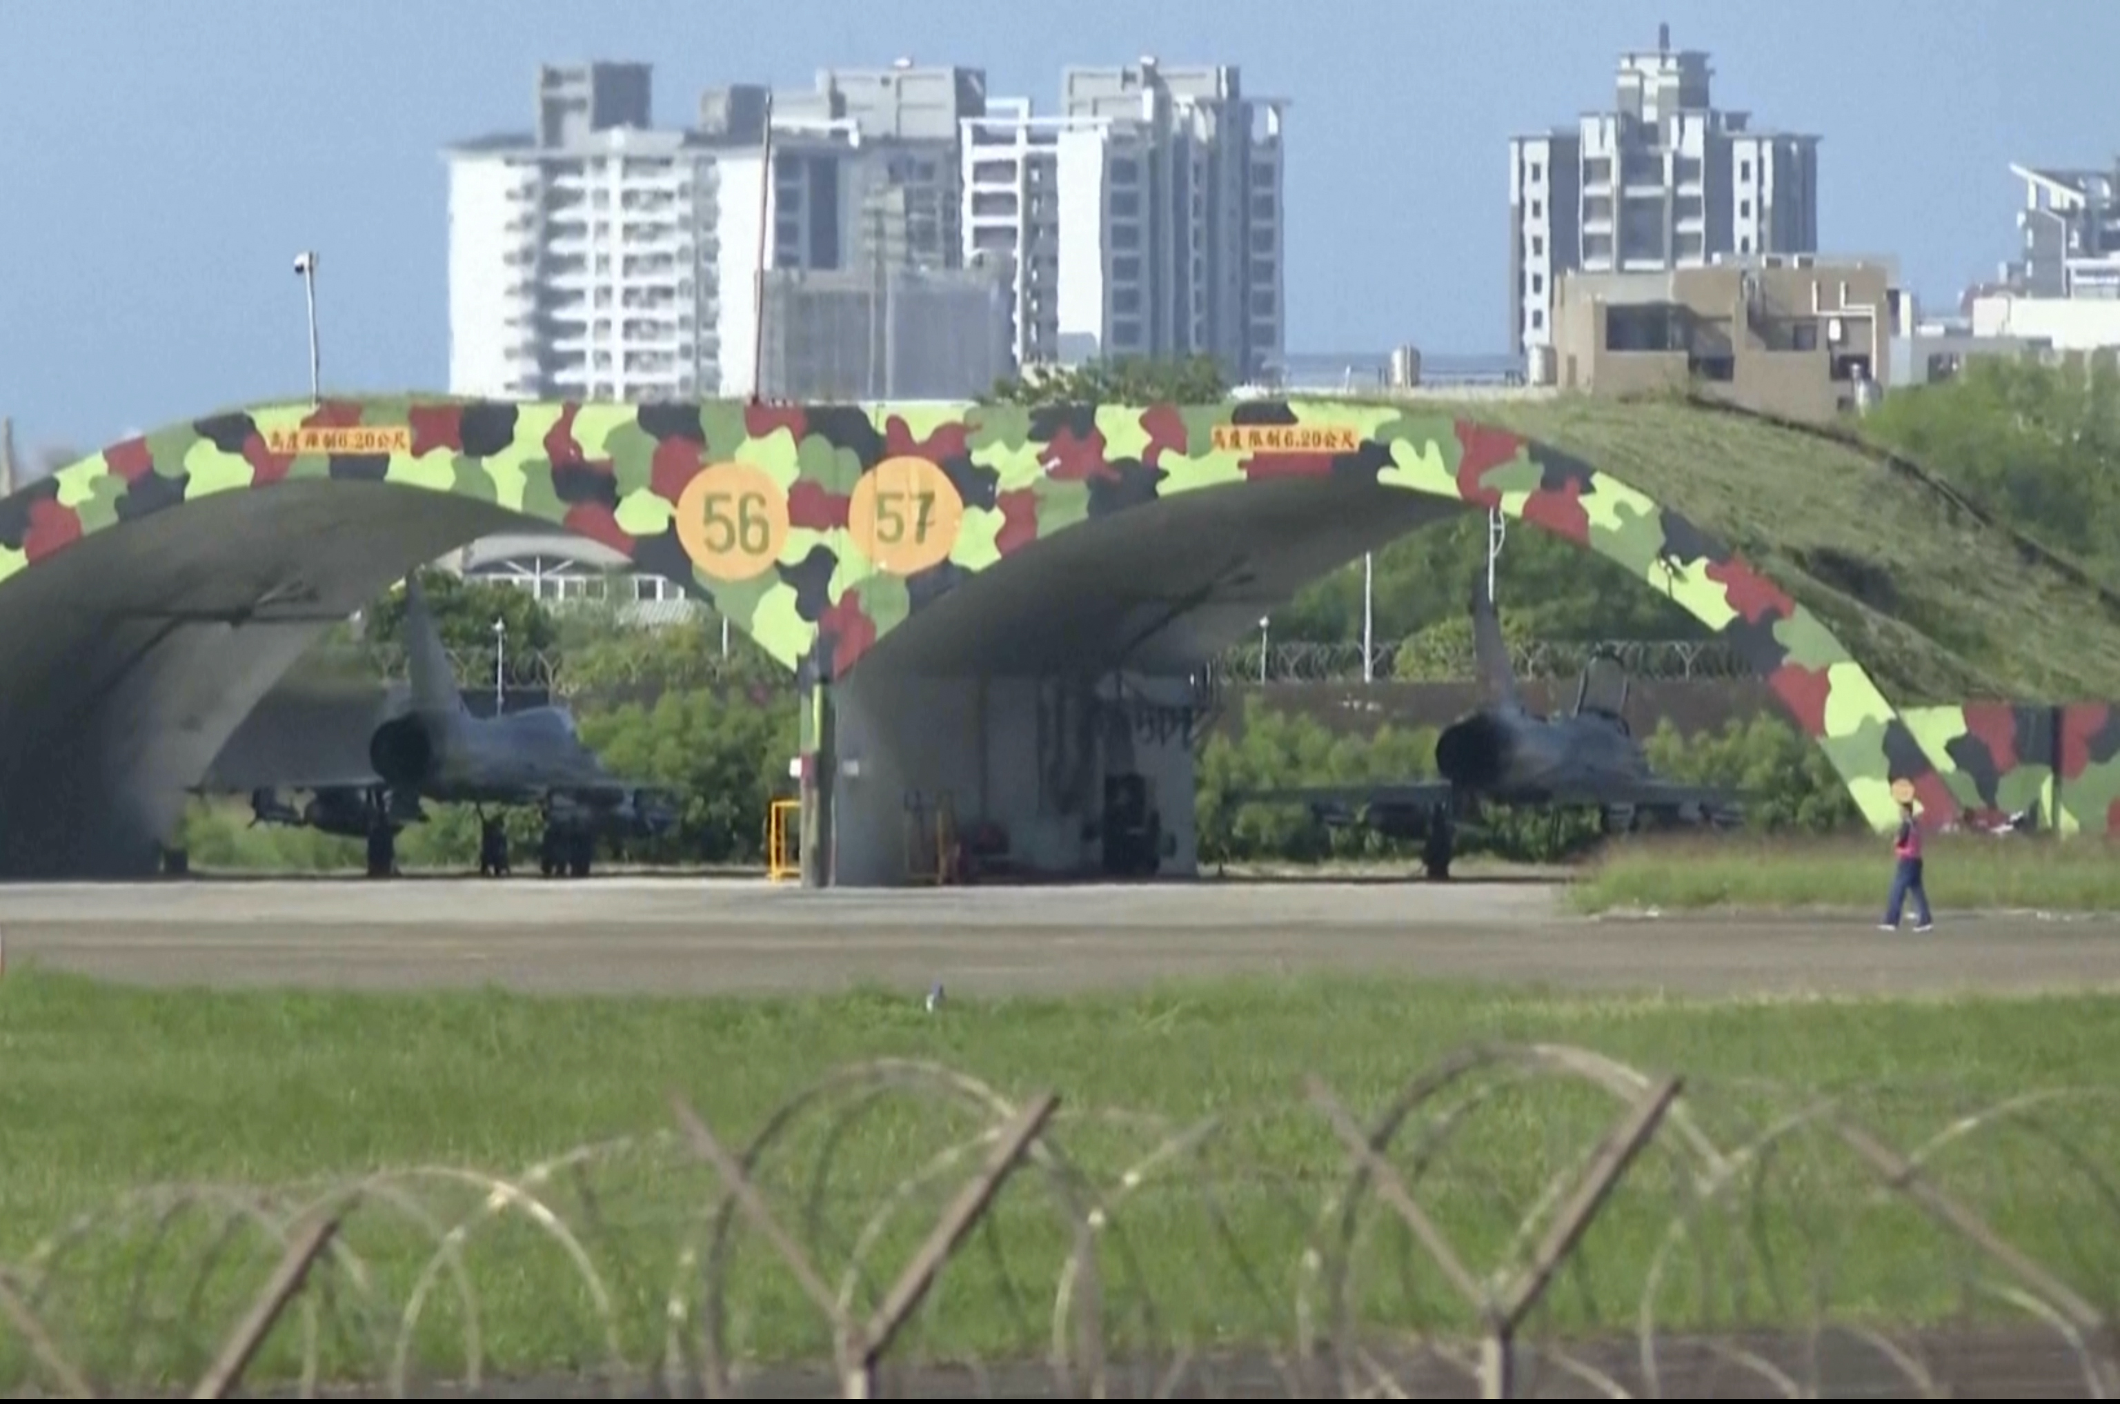
[[[731,1147],[827,1071],[878,1056],[937,1060],[1005,1096],[1062,1094],[1052,1133],[1077,1179],[1026,1171],[929,1300],[907,1349],[1035,1357],[1052,1347],[1066,1258],[1066,1211],[1117,1198],[1100,1239],[1107,1345],[1143,1338],[1283,1342],[1297,1321],[1304,1247],[1348,1186],[1346,1154],[1302,1101],[1323,1075],[1372,1124],[1444,1054],[1473,1041],[1545,1039],[1594,1048],[1649,1073],[1692,1077],[1685,1118],[1724,1154],[1745,1145],[1802,1092],[1849,1096],[1887,1143],[1912,1149],[1969,1107],[2027,1088],[2084,1086],[2101,1099],[2037,1109],[2022,1126],[1950,1141],[1936,1177],[2012,1243],[2103,1300],[2120,1213],[2095,1166],[2120,1164],[2120,1092],[2107,999],[2044,1001],[1615,1001],[1503,995],[1406,982],[1276,980],[1168,986],[1081,1001],[950,1001],[926,1014],[914,993],[801,1001],[591,1001],[488,995],[339,997],[146,993],[13,969],[0,982],[0,1260],[25,1264],[40,1236],[89,1215],[93,1228],[51,1279],[40,1311],[78,1357],[140,1387],[189,1381],[257,1292],[278,1247],[250,1234],[227,1247],[197,1300],[193,1283],[227,1211],[193,1211],[155,1236],[146,1213],[112,1205],[146,1181],[310,1186],[390,1166],[454,1164],[519,1173],[581,1143],[672,1124],[681,1088]],[[1774,1084],[1774,1086],[1766,1086]],[[1473,1099],[1471,1088],[1482,1096]],[[842,1285],[865,1224],[935,1154],[996,1118],[965,1096],[846,1090],[791,1122],[757,1175],[774,1211]],[[1461,1122],[1437,1137],[1442,1105]],[[1113,1120],[1100,1111],[1147,1113]],[[1518,1224],[1567,1173],[1620,1103],[1582,1082],[1495,1075],[1461,1084],[1408,1120],[1391,1160],[1471,1273],[1512,1262]],[[1196,1154],[1147,1162],[1172,1128],[1223,1118]],[[2037,1130],[2059,1139],[2042,1139]],[[1963,1128],[1961,1128],[1963,1133]],[[975,1156],[973,1156],[975,1158]],[[1147,1164],[1145,1164],[1147,1162]],[[1804,1133],[1757,1160],[1732,1158],[1730,1192],[1702,1196],[1713,1160],[1677,1133],[1658,1139],[1556,1281],[1552,1326],[1632,1330],[1649,1266],[1677,1241],[1647,1296],[1666,1323],[1791,1321],[1821,1292],[1847,1317],[1929,1319],[1957,1304],[1965,1251],[1906,1200],[1874,1192],[1847,1149]],[[924,1236],[960,1162],[907,1194],[848,1287],[880,1300]],[[394,1209],[363,1211],[346,1241],[363,1256],[373,1326],[388,1340],[443,1228],[475,1215],[490,1186],[394,1181]],[[538,1192],[579,1236],[581,1262],[608,1294],[611,1342],[649,1359],[672,1289],[697,1306],[700,1222],[712,1177],[683,1147],[649,1141],[555,1173]],[[1109,1200],[1107,1200],[1109,1203]],[[1717,1207],[1709,1211],[1704,1207]],[[420,1226],[416,1213],[435,1215]],[[216,1217],[216,1213],[220,1217]],[[1338,1222],[1338,1219],[1333,1219]],[[1382,1330],[1465,1328],[1469,1311],[1365,1200],[1353,1234],[1350,1300]],[[793,1277],[755,1232],[740,1232],[725,1275],[731,1349],[818,1355],[825,1334]],[[604,1319],[555,1232],[505,1215],[462,1243],[490,1372],[570,1368],[598,1357]],[[1327,1277],[1338,1258],[1327,1251]],[[34,1264],[28,1273],[34,1283]],[[333,1275],[346,1294],[341,1275]],[[1312,1279],[1312,1287],[1317,1287]],[[136,1330],[129,1302],[174,1326]],[[464,1309],[441,1273],[413,1330],[413,1357],[462,1374]],[[1143,1319],[1153,1304],[1155,1323]],[[1325,1311],[1312,1294],[1314,1311]],[[354,1317],[346,1319],[369,1319]],[[0,1328],[0,1340],[6,1330]],[[187,1349],[167,1345],[191,1340]],[[293,1323],[259,1370],[295,1364]],[[324,1334],[333,1372],[373,1372],[388,1349]],[[13,1385],[19,1345],[0,1345]]]

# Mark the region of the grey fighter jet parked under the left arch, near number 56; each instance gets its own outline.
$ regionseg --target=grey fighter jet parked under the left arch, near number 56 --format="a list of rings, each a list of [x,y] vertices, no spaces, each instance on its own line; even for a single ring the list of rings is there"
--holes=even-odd
[[[369,876],[396,870],[396,833],[426,819],[422,800],[479,806],[479,872],[485,876],[509,870],[500,819],[485,814],[490,804],[543,810],[538,867],[545,876],[587,876],[600,833],[644,838],[676,823],[676,810],[653,787],[604,770],[566,708],[475,717],[416,579],[405,581],[405,643],[411,687],[388,700],[384,719],[369,732],[367,766],[348,761],[350,738],[341,736],[307,734],[312,749],[339,753],[310,770],[284,755],[246,759],[250,749],[237,734],[216,757],[206,787],[248,789],[252,823],[365,838]],[[305,789],[312,797],[297,810],[278,797],[280,789]]]

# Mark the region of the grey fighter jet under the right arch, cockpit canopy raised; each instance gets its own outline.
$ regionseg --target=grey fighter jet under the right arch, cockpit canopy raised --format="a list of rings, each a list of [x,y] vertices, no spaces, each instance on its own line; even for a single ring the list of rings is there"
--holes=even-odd
[[[1471,638],[1480,706],[1435,740],[1437,780],[1240,791],[1238,804],[1306,804],[1325,825],[1361,821],[1389,838],[1425,838],[1431,878],[1450,876],[1454,829],[1482,802],[1598,810],[1605,833],[1630,831],[1643,817],[1730,827],[1743,823],[1743,795],[1666,780],[1626,725],[1626,672],[1618,702],[1590,702],[1592,660],[1575,689],[1575,708],[1541,717],[1516,691],[1501,619],[1480,573],[1471,592]],[[1558,823],[1558,812],[1556,812]]]

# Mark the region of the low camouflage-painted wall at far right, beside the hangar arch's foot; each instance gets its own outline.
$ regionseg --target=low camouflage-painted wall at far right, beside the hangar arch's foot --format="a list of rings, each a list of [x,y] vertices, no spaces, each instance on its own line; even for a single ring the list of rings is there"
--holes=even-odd
[[[2120,831],[2120,710],[2112,702],[1961,702],[1904,717],[1965,819],[2031,810],[2039,829],[2063,836]]]

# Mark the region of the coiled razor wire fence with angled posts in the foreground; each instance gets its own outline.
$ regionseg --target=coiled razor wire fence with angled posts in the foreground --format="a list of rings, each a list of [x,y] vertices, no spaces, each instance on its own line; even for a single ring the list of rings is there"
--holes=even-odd
[[[912,1060],[742,1145],[668,1105],[513,1175],[127,1194],[0,1268],[0,1364],[76,1398],[2120,1389],[2109,1090],[1497,1043],[1367,1120],[1323,1080],[1185,1122]]]

